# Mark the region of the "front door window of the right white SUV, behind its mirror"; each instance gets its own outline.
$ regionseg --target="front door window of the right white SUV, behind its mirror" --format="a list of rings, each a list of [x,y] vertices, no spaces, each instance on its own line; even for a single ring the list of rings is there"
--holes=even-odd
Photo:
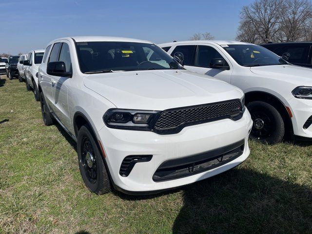
[[[211,59],[224,59],[215,48],[207,45],[198,45],[195,66],[197,67],[210,67]],[[226,63],[226,61],[225,61]],[[228,65],[227,63],[225,65]]]

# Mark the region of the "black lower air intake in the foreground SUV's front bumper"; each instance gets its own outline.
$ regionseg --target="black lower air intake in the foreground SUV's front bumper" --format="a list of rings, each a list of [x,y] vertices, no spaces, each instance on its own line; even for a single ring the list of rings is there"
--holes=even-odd
[[[245,140],[242,139],[208,152],[167,160],[158,167],[153,180],[155,182],[168,181],[212,170],[241,156],[244,146]]]

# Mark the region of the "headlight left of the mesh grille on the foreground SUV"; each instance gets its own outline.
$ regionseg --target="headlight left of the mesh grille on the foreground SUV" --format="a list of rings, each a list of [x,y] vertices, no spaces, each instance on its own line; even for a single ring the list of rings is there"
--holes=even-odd
[[[160,111],[109,109],[103,116],[107,127],[150,131]]]

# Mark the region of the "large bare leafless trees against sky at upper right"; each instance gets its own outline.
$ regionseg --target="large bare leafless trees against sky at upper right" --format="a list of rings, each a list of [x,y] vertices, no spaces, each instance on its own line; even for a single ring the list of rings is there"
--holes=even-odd
[[[251,43],[312,41],[310,0],[255,0],[240,12],[237,40]]]

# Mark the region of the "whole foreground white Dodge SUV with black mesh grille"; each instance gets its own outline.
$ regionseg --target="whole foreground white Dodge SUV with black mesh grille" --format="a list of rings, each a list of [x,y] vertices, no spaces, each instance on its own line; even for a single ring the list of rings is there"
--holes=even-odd
[[[186,71],[155,44],[56,39],[39,67],[43,121],[77,141],[86,186],[155,193],[214,176],[249,155],[243,92]]]

